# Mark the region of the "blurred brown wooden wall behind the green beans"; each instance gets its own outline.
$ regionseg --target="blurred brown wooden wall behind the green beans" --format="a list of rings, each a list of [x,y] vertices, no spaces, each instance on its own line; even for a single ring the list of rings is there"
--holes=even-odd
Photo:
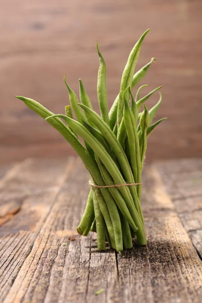
[[[78,93],[78,79],[98,111],[99,61],[107,63],[109,105],[119,91],[127,57],[150,28],[137,65],[157,59],[142,95],[161,84],[157,118],[168,117],[149,138],[147,161],[201,156],[201,0],[2,0],[0,11],[0,161],[74,154],[56,130],[14,95],[31,97],[55,113],[69,104],[63,82]],[[154,105],[155,94],[147,102]]]

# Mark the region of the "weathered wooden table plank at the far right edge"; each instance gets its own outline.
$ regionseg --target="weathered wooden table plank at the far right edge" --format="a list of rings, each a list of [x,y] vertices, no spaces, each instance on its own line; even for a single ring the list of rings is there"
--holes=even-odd
[[[183,226],[202,259],[202,159],[156,164]]]

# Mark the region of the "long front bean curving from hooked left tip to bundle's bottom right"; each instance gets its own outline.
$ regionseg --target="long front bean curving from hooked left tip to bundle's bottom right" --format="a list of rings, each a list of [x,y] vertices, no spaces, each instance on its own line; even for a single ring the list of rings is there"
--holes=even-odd
[[[81,105],[81,106],[84,107],[85,109],[88,109],[84,105]],[[91,111],[90,109],[88,109],[88,110]],[[72,129],[90,145],[90,147],[94,150],[94,153],[100,158],[100,160],[103,162],[105,167],[107,167],[109,173],[113,177],[114,182],[116,184],[125,183],[125,180],[124,180],[121,172],[119,171],[117,165],[112,160],[110,155],[107,153],[104,146],[81,123],[74,121],[71,118],[66,117],[64,115],[55,115],[55,116],[49,117],[49,118],[54,118],[54,117],[63,118],[66,121],[66,123],[70,127],[72,127]],[[105,125],[107,125],[107,124],[105,123]],[[132,196],[130,195],[130,190],[128,189],[128,187],[134,187],[134,186],[122,186],[122,187],[120,187],[120,192],[125,200],[125,203],[128,207],[129,212],[131,213],[131,216],[133,218],[135,225],[138,227],[137,240],[140,245],[145,245],[146,237],[145,237],[145,233],[144,233],[144,228],[143,228],[141,219],[139,218],[138,212],[133,204],[133,199],[132,199]]]

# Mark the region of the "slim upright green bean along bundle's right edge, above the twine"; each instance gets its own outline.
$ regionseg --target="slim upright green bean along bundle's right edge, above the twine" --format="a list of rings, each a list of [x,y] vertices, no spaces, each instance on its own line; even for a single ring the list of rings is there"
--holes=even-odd
[[[140,148],[140,160],[141,160],[141,169],[143,168],[144,165],[144,157],[145,157],[145,152],[146,152],[146,130],[148,127],[149,123],[149,113],[144,105],[144,112],[140,117],[140,128],[141,128],[141,138],[139,141],[139,148]]]

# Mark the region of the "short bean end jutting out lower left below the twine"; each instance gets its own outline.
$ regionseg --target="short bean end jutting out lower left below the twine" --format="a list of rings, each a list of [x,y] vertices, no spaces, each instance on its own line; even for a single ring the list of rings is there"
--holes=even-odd
[[[87,235],[90,230],[93,220],[94,220],[94,208],[93,208],[93,200],[92,200],[92,190],[90,189],[85,211],[83,213],[81,222],[80,222],[79,226],[77,227],[78,233],[80,235],[82,235],[85,231],[85,235]]]

